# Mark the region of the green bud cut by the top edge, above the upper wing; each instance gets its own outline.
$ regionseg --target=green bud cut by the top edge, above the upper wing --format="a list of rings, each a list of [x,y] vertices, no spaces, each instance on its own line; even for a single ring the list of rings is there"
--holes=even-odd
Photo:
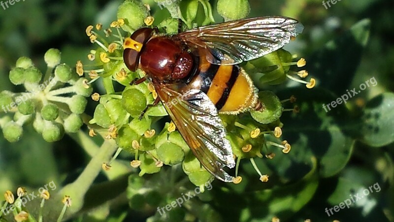
[[[218,0],[218,13],[226,21],[246,18],[250,13],[248,0]]]

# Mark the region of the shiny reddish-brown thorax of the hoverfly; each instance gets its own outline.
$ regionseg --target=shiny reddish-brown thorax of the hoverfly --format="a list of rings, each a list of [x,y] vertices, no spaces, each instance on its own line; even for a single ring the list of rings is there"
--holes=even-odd
[[[181,79],[192,67],[191,55],[171,38],[154,37],[141,50],[140,68],[154,79]]]

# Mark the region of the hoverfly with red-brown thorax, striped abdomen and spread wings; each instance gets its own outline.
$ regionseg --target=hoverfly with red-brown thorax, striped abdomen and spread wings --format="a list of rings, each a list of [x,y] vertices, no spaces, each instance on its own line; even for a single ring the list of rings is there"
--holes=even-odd
[[[171,36],[141,28],[125,39],[123,58],[132,72],[145,72],[134,84],[153,83],[158,94],[154,105],[163,103],[202,166],[217,179],[232,182],[224,168],[233,168],[235,161],[219,114],[263,109],[256,87],[238,64],[283,47],[302,30],[298,21],[279,16],[185,32],[180,25]]]

